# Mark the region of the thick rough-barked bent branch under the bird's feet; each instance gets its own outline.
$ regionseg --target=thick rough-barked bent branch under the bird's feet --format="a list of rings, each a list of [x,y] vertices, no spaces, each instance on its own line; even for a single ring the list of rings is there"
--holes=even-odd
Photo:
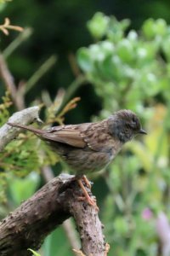
[[[82,190],[71,175],[60,175],[44,185],[0,223],[0,255],[31,255],[28,248],[37,250],[52,230],[72,216],[81,237],[82,253],[105,256],[98,212],[86,201],[79,201],[80,196]]]

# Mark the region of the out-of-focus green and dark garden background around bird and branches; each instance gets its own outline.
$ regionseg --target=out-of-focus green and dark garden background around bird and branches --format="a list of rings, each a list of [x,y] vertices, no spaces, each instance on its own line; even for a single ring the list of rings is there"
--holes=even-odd
[[[0,35],[18,97],[10,100],[1,74],[0,125],[15,111],[42,103],[45,125],[99,120],[121,108],[137,113],[148,135],[127,143],[105,172],[92,177],[93,192],[109,255],[170,255],[170,2],[13,0],[0,3],[0,11],[1,24],[8,17],[24,27]],[[37,141],[23,134],[8,144],[7,158],[0,154],[1,218],[47,182],[44,172],[62,172]],[[73,255],[66,229],[48,236],[41,255]]]

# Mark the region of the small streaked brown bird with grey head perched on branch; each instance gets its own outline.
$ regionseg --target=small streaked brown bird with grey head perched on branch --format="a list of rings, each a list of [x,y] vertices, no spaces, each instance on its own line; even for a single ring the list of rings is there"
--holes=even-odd
[[[14,123],[8,125],[33,131],[47,141],[76,173],[78,183],[92,205],[94,201],[82,184],[82,178],[86,180],[84,175],[102,170],[115,158],[124,143],[137,134],[146,134],[136,114],[126,109],[99,122],[59,125],[48,130]]]

